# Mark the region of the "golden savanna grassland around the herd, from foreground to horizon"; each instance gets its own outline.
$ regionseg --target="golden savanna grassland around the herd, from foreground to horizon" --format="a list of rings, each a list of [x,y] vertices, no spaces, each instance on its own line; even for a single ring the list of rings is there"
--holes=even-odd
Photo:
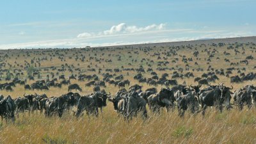
[[[18,77],[21,80],[26,79],[26,84],[32,84],[37,80],[46,80],[47,75],[52,79],[51,73],[58,78],[57,72],[59,76],[64,74],[66,79],[72,74],[77,76],[79,74],[96,74],[102,80],[102,74],[107,73],[106,69],[113,69],[113,72],[108,73],[116,76],[122,74],[124,79],[131,81],[130,86],[140,84],[143,86],[142,90],[152,87],[160,90],[164,85],[150,86],[134,79],[134,76],[138,74],[136,68],[143,67],[145,72],[141,72],[141,74],[146,78],[152,77],[150,72],[147,72],[148,68],[152,68],[157,76],[161,77],[162,74],[167,73],[168,79],[172,79],[172,74],[175,71],[179,74],[193,72],[195,77],[201,77],[204,73],[215,72],[221,68],[225,73],[227,68],[234,67],[232,74],[229,74],[228,77],[226,74],[224,76],[217,74],[220,80],[215,83],[211,82],[211,84],[232,85],[234,87],[232,92],[234,92],[246,84],[255,84],[255,80],[230,83],[231,76],[239,76],[238,70],[244,74],[255,72],[255,59],[248,60],[248,65],[240,63],[240,61],[246,60],[247,56],[256,58],[255,44],[256,38],[249,37],[247,39],[231,38],[83,49],[3,50],[0,51],[0,83],[10,82],[6,81],[6,77],[11,79]],[[235,49],[239,52],[235,52]],[[197,57],[193,55],[195,51],[199,52]],[[212,57],[210,57],[211,54]],[[192,61],[185,63],[182,58],[192,58]],[[169,63],[159,65],[161,61]],[[238,63],[238,65],[230,65],[230,63]],[[134,70],[123,70],[122,66],[134,68]],[[209,66],[213,68],[213,71],[207,70]],[[173,69],[170,70],[172,67]],[[92,68],[95,71],[92,71]],[[115,68],[119,68],[121,71],[114,72]],[[157,70],[157,68],[166,68],[166,70]],[[186,68],[188,69],[186,70]],[[197,68],[202,68],[202,71],[196,70]],[[35,80],[29,80],[29,70],[38,72],[40,75],[36,74]],[[198,83],[194,81],[195,77],[177,78],[177,81],[179,84],[196,85]],[[70,83],[79,84],[83,91],[78,93],[86,95],[93,92],[92,86],[85,86],[90,81],[92,80],[71,79]],[[129,86],[125,86],[125,88],[128,89]],[[118,86],[108,83],[104,89],[111,93],[111,97],[115,97],[115,93],[119,90]],[[24,93],[45,93],[48,97],[58,97],[68,93],[68,86],[51,87],[48,91],[41,91],[25,90],[23,85],[17,84],[13,87],[13,92],[0,91],[4,97],[11,95],[13,99],[22,97]],[[129,122],[125,121],[122,116],[117,116],[111,102],[107,103],[107,106],[103,108],[103,113],[99,113],[97,118],[83,115],[77,119],[73,115],[76,107],[65,111],[61,118],[58,116],[47,118],[40,111],[19,114],[16,116],[15,124],[11,122],[6,124],[4,120],[0,122],[0,143],[256,143],[255,107],[252,109],[244,107],[242,111],[239,111],[234,106],[229,111],[225,109],[223,113],[215,108],[207,108],[205,116],[200,113],[191,115],[186,112],[184,118],[178,116],[177,108],[168,113],[162,109],[160,114],[152,113],[148,108],[147,110],[147,120],[138,116]]]

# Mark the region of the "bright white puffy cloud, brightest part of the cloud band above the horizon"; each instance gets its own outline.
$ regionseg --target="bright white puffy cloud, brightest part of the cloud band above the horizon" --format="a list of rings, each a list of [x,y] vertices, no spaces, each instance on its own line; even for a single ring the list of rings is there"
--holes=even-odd
[[[88,38],[90,36],[102,36],[102,35],[116,35],[116,34],[125,34],[125,33],[141,33],[145,31],[160,31],[164,29],[166,24],[152,24],[150,26],[145,27],[137,27],[137,26],[127,26],[125,23],[118,24],[116,26],[112,26],[110,29],[106,31],[99,32],[97,35],[94,33],[80,33],[77,35],[77,38]]]

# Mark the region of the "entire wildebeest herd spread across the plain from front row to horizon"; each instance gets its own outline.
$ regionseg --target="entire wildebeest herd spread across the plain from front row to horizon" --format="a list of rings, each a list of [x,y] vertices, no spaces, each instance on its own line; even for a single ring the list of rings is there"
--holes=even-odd
[[[0,115],[98,116],[107,103],[126,120],[162,108],[181,117],[213,106],[252,108],[255,52],[252,42],[4,50]]]

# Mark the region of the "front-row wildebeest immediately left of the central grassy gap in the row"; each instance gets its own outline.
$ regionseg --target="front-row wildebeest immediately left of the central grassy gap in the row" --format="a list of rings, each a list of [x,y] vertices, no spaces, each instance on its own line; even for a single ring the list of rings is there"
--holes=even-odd
[[[110,93],[109,93],[110,95]],[[78,104],[77,104],[77,112],[76,116],[79,117],[81,113],[86,110],[86,114],[98,116],[99,110],[102,112],[102,107],[107,106],[106,99],[108,98],[108,94],[106,93],[94,93],[93,95],[86,95],[80,97]]]

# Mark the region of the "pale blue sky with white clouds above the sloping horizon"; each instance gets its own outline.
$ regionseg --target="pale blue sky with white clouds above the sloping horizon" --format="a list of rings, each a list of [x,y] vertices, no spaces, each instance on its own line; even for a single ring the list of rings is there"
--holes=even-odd
[[[254,0],[29,1],[0,4],[0,49],[255,36]]]

